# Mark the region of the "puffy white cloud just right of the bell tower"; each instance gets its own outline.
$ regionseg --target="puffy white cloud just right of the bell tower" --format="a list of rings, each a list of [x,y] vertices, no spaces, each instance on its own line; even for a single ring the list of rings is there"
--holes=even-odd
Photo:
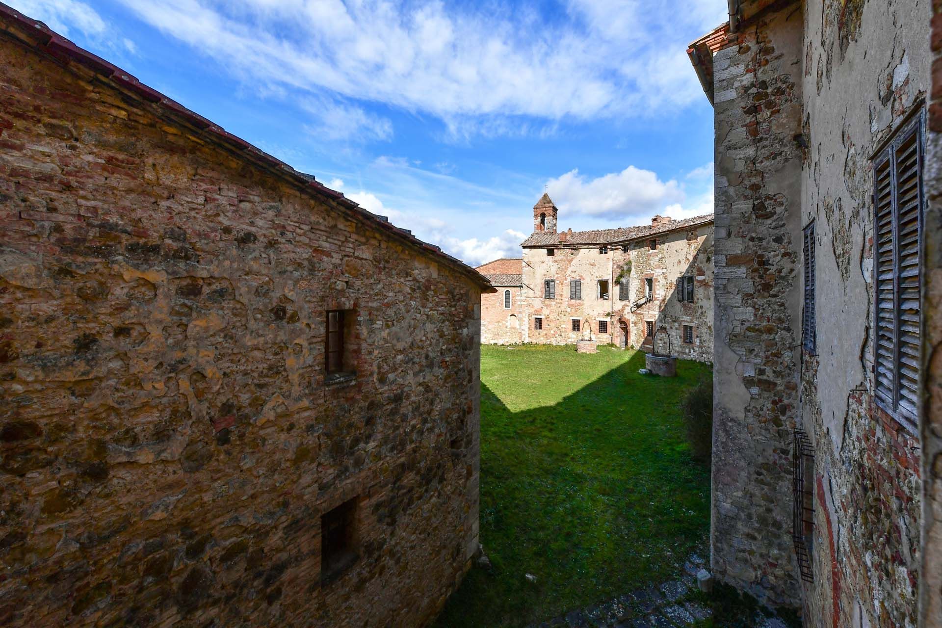
[[[684,200],[676,181],[661,181],[655,172],[634,166],[596,179],[573,169],[546,186],[560,210],[594,217],[638,219]]]

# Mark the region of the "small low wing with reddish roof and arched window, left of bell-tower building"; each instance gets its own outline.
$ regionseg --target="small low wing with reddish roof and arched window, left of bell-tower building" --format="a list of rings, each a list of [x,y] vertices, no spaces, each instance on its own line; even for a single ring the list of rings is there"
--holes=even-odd
[[[480,296],[480,342],[518,345],[523,342],[523,260],[501,258],[478,266],[497,292]]]

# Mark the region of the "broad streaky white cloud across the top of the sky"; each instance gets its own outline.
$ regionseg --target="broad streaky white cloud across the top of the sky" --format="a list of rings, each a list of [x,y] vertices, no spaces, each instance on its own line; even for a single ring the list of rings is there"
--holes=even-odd
[[[703,94],[686,45],[723,17],[716,0],[571,0],[563,20],[437,0],[121,1],[259,91],[428,114],[453,138],[687,105]],[[338,135],[391,135],[362,108],[328,113]]]

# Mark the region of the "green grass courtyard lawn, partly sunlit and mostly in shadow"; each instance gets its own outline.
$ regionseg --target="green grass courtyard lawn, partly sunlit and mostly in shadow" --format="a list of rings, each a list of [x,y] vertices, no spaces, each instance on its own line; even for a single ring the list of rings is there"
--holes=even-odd
[[[706,552],[709,471],[678,403],[710,367],[639,375],[641,352],[481,346],[480,539],[436,626],[518,626],[675,576]],[[529,583],[526,573],[537,577]]]

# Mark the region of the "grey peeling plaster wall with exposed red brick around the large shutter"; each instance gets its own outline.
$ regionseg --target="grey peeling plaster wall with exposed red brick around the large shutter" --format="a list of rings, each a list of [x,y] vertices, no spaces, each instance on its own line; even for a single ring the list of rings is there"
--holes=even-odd
[[[815,224],[817,292],[817,355],[801,362],[816,453],[811,626],[917,622],[918,435],[871,396],[870,155],[924,106],[929,13],[928,0],[804,6],[801,222]]]

